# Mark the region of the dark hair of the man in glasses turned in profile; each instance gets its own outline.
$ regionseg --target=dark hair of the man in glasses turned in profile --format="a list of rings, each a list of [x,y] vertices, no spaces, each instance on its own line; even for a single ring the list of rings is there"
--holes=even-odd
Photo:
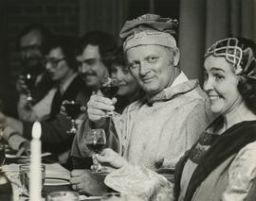
[[[64,60],[69,68],[77,71],[78,62],[76,59],[76,45],[78,39],[76,37],[66,35],[52,35],[46,42],[45,54],[48,54],[50,50],[60,47],[64,54]]]

